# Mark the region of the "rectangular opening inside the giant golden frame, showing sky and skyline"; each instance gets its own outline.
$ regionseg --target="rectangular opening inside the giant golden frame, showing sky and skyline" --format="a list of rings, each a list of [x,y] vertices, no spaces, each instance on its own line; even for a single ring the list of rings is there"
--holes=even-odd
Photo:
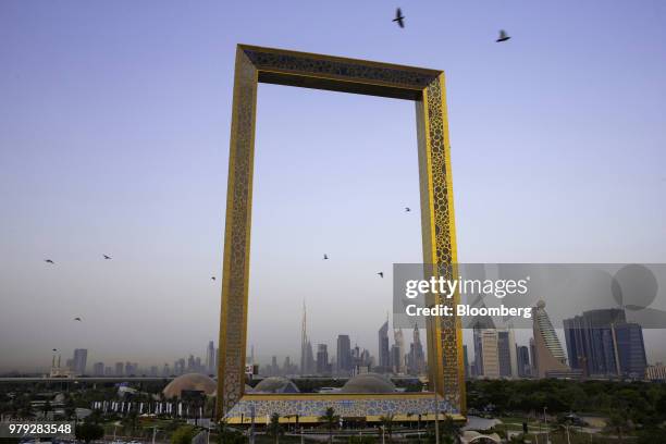
[[[301,391],[363,371],[421,391],[412,332],[378,337],[392,264],[422,257],[414,104],[260,85],[255,146],[247,363]]]

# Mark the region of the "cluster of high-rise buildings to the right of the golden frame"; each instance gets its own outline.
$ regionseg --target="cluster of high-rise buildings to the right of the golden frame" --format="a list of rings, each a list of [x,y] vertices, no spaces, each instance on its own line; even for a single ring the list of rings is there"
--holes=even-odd
[[[565,319],[563,326],[566,353],[543,301],[533,309],[529,346],[517,345],[511,329],[496,329],[492,320],[481,319],[473,325],[474,355],[469,367],[465,350],[466,374],[486,379],[650,377],[641,325],[627,322],[622,309],[584,311]],[[656,368],[649,371],[658,373]]]

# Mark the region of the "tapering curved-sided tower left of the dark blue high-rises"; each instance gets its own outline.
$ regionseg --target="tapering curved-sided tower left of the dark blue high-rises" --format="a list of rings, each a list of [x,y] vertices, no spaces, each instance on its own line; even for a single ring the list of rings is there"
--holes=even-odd
[[[569,371],[559,338],[545,311],[545,303],[540,300],[532,313],[532,332],[534,334],[534,350],[536,354],[536,375],[546,378],[548,372],[559,373]]]

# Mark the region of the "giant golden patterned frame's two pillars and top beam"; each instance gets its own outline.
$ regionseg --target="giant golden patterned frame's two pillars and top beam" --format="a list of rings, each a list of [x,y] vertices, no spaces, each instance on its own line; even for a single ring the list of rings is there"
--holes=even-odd
[[[456,263],[444,72],[238,45],[222,270],[218,418],[244,396],[257,87],[269,83],[412,100],[416,103],[423,262],[451,278]],[[429,304],[457,304],[452,299]],[[455,310],[454,310],[455,312]],[[429,320],[431,390],[465,415],[460,320]],[[434,359],[433,359],[434,357]],[[321,395],[325,398],[326,395]]]

